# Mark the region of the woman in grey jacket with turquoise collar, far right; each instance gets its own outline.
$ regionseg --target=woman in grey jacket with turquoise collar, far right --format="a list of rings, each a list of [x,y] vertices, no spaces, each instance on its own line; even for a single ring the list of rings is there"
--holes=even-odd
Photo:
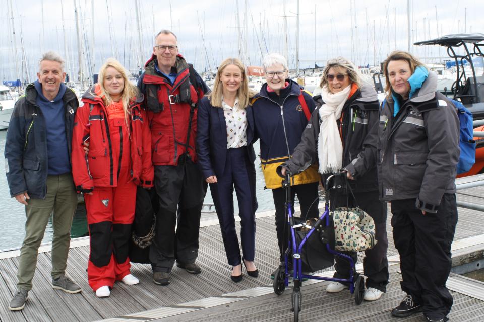
[[[406,293],[392,315],[406,317],[423,309],[427,321],[447,321],[459,120],[452,101],[436,92],[437,76],[411,54],[394,51],[383,67],[380,197],[391,201],[400,284]]]

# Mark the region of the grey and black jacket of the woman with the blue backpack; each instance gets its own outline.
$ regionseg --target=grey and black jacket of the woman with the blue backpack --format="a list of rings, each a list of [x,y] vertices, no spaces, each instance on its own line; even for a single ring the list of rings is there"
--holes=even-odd
[[[444,193],[455,193],[459,160],[459,120],[455,106],[436,92],[429,73],[422,87],[402,102],[386,100],[379,122],[378,174],[382,200],[416,199],[416,207],[435,213]]]

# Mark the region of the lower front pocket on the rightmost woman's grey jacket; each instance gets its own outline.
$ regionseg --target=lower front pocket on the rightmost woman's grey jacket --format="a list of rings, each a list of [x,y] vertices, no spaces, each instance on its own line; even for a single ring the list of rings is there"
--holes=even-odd
[[[395,187],[419,190],[427,168],[428,153],[404,152],[393,155]]]

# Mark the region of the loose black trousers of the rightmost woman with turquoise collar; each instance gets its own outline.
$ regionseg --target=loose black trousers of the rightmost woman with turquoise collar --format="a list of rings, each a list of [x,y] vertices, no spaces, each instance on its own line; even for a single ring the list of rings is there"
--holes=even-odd
[[[455,194],[444,194],[437,213],[423,215],[415,199],[393,200],[391,210],[402,290],[423,306],[427,317],[446,317],[453,303],[445,283],[452,267],[450,247],[457,224]]]

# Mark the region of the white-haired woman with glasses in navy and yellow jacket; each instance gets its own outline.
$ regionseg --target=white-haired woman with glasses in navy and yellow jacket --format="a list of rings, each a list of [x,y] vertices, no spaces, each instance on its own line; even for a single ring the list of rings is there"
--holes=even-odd
[[[309,93],[302,91],[296,82],[288,78],[289,68],[283,56],[275,53],[267,55],[262,67],[266,83],[252,100],[252,106],[256,137],[260,140],[262,171],[266,187],[272,189],[274,198],[277,241],[280,260],[283,261],[287,249],[285,194],[281,178],[275,170],[291,158],[315,104]],[[305,171],[294,176],[292,204],[297,194],[302,217],[313,218],[319,213],[318,184],[321,177],[317,169],[316,165],[309,164]]]

